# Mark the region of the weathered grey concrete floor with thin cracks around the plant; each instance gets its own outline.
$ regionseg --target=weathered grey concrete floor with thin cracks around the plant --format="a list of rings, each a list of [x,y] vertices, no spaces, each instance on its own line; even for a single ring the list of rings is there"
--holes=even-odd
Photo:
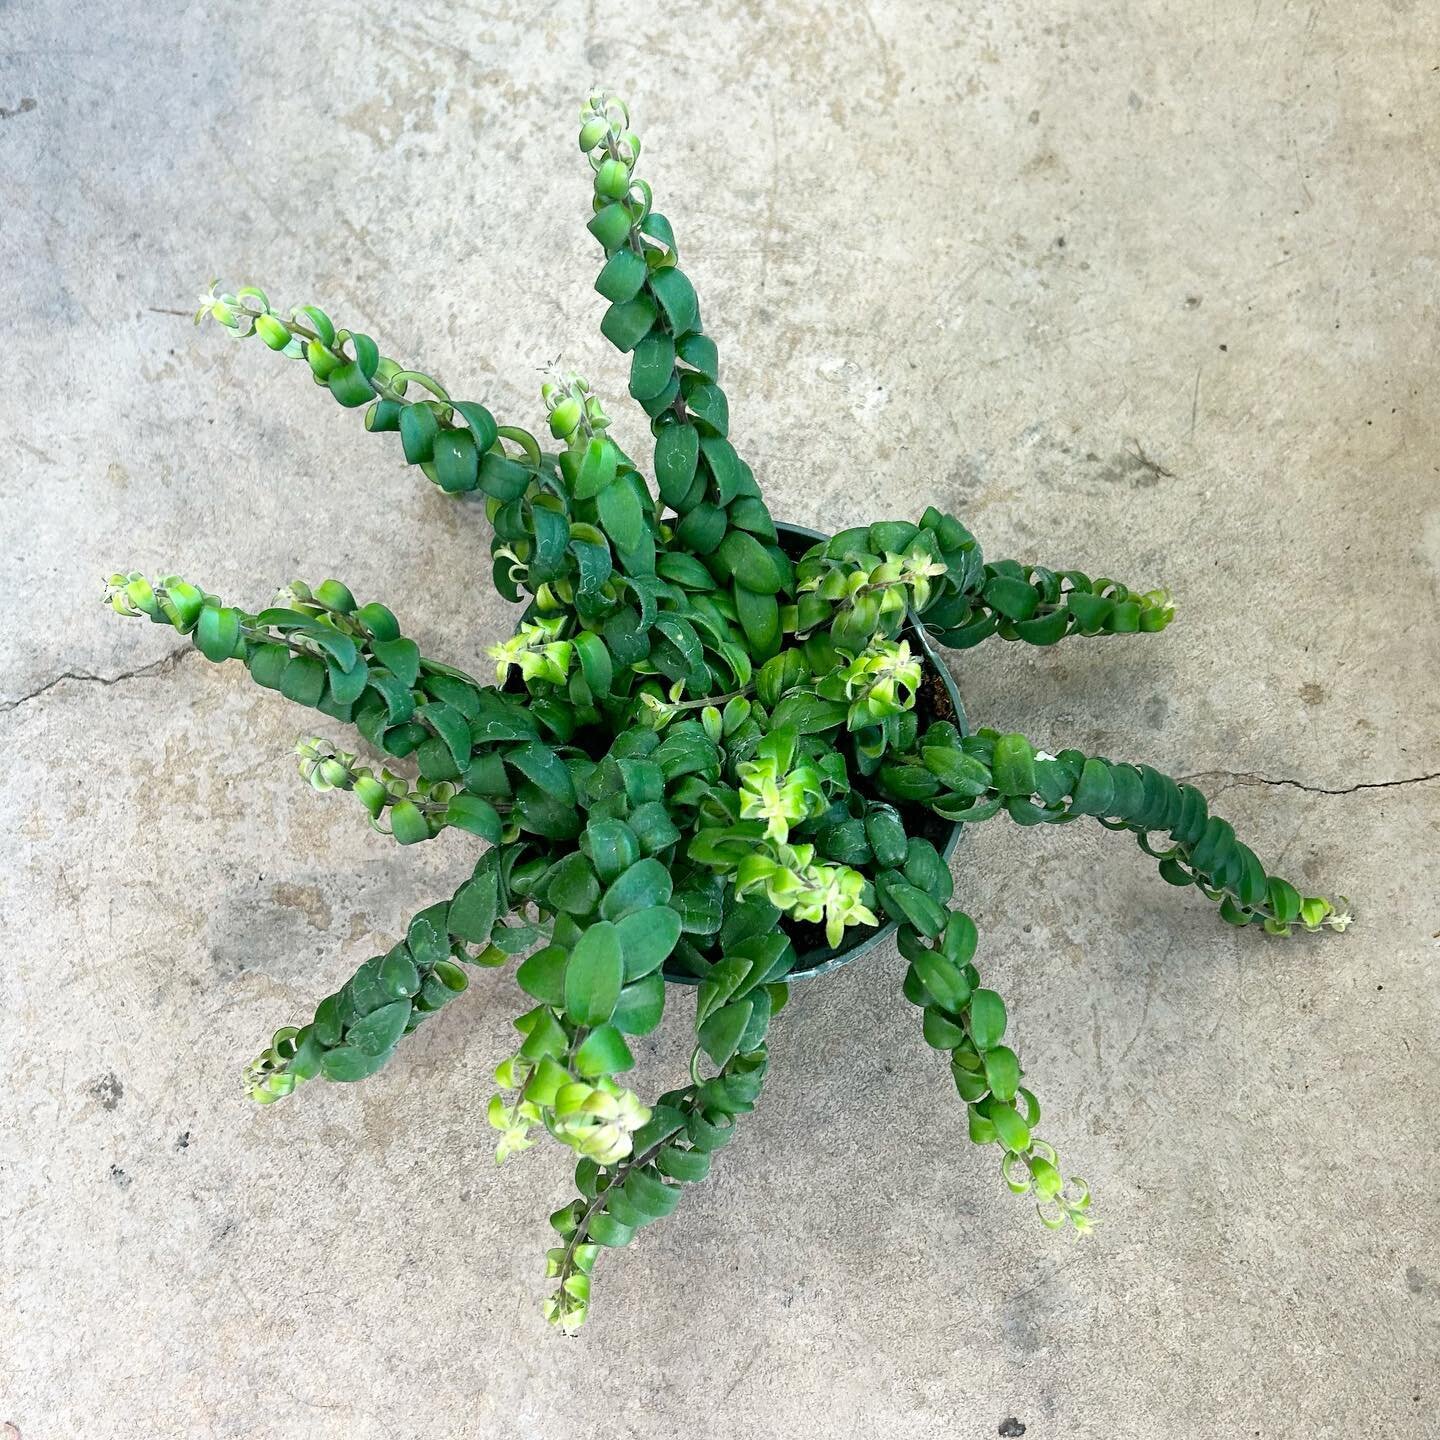
[[[1440,1434],[1437,16],[6,7],[0,1434]],[[1201,775],[1359,923],[1267,942],[1119,837],[971,837],[1103,1227],[1002,1194],[887,950],[796,995],[743,1139],[566,1342],[566,1166],[497,1172],[481,1113],[508,976],[364,1086],[240,1096],[469,847],[370,835],[298,783],[312,719],[96,600],[117,566],[251,606],[337,575],[477,662],[482,516],[177,311],[253,279],[531,425],[563,353],[638,448],[582,228],[596,78],[776,513],[933,500],[995,556],[1168,583],[1159,638],[958,657],[972,714]]]

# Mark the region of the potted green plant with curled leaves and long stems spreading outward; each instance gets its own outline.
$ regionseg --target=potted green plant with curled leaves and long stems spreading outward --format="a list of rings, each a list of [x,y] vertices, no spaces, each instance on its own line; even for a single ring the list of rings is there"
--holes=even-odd
[[[420,654],[386,606],[337,580],[289,585],[249,613],[177,576],[109,577],[107,600],[235,660],[261,685],[353,724],[387,757],[300,742],[317,791],[354,795],[402,845],[442,829],[487,842],[474,874],[420,910],[246,1070],[269,1104],[315,1077],[361,1080],[446,1007],[472,966],[524,956],[533,1002],[495,1071],[498,1158],[549,1135],[577,1158],[550,1223],[546,1315],[580,1325],[606,1248],[668,1215],[760,1094],[788,982],[896,929],[901,991],[948,1057],[969,1136],[1051,1227],[1084,1231],[1090,1194],[1040,1139],[1040,1104],[981,982],[978,936],[936,848],[959,825],[1092,816],[1130,831],[1161,876],[1270,935],[1342,929],[1344,903],[1270,874],[1205,798],[1148,765],[966,733],[927,644],[1031,645],[1155,634],[1162,590],[985,560],[953,516],[880,520],[796,543],[730,442],[714,341],[670,222],[635,174],[625,107],[595,95],[580,150],[605,251],[600,330],[629,356],[651,419],[654,490],[576,376],[543,389],[557,448],[458,400],[314,305],[212,289],[197,320],[308,367],[410,465],[478,491],[494,582],[527,602],[491,651],[492,683]],[[390,768],[395,766],[395,769]],[[690,1080],[654,1103],[622,1079],[667,981],[697,986]]]

